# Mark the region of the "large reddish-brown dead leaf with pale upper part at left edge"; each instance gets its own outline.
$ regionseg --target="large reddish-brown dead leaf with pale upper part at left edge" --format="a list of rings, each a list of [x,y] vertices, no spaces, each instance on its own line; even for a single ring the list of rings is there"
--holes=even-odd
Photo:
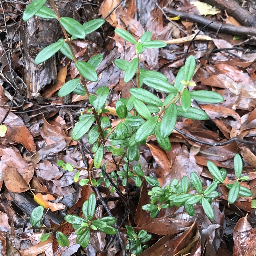
[[[3,120],[6,113],[7,109],[0,108],[0,121]],[[27,148],[31,155],[36,153],[34,138],[19,116],[9,112],[8,116],[4,120],[4,124],[7,126],[7,133],[4,136],[6,144],[8,142],[18,142]]]

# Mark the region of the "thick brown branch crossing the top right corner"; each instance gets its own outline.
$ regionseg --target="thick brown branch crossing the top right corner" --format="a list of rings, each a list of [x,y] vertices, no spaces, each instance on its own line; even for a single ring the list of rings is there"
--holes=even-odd
[[[207,4],[226,10],[228,15],[235,18],[240,24],[246,27],[256,26],[256,17],[237,4],[234,0],[203,0]]]

